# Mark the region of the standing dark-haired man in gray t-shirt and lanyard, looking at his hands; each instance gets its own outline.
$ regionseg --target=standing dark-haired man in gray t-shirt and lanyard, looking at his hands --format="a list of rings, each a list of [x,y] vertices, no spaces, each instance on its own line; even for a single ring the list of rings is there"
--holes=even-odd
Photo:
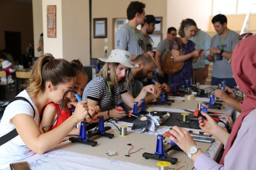
[[[233,78],[231,65],[228,59],[232,56],[232,50],[238,43],[238,34],[227,28],[227,17],[218,14],[212,18],[212,24],[217,32],[211,40],[209,61],[213,61],[212,85],[218,85],[225,80],[227,86],[236,86]]]

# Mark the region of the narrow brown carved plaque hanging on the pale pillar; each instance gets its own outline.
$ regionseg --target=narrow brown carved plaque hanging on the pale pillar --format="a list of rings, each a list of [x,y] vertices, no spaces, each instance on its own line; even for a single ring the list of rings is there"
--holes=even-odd
[[[56,38],[56,5],[47,5],[47,37]]]

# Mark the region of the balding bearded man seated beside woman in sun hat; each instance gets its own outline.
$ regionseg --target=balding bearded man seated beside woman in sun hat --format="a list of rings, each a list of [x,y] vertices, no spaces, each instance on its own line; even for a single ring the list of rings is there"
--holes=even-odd
[[[138,55],[136,59],[133,61],[133,64],[138,64],[139,67],[131,69],[131,79],[129,81],[128,78],[126,77],[126,82],[125,82],[126,85],[128,83],[127,91],[132,96],[136,97],[139,95],[141,89],[143,88],[142,80],[144,80],[148,75],[152,74],[155,63],[156,62],[154,58],[147,53]],[[145,98],[146,104],[158,98],[161,95],[163,90],[169,91],[169,87],[165,83],[163,83],[162,85],[160,83],[156,83],[155,87],[156,87],[156,95],[148,94]],[[119,103],[122,103],[122,101],[119,101]],[[122,104],[120,104],[120,106],[123,106]],[[125,107],[128,110],[130,110],[128,106],[125,105]]]

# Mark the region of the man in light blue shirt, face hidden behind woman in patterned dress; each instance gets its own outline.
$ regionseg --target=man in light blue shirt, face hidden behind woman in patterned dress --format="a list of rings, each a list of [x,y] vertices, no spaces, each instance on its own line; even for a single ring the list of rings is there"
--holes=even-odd
[[[206,32],[198,29],[196,26],[196,30],[194,32],[194,36],[190,39],[195,43],[196,50],[207,50],[211,45],[211,37]],[[205,52],[205,55],[208,55],[209,51]],[[199,57],[198,62],[192,63],[194,69],[194,82],[199,82],[200,84],[205,85],[206,78],[208,77],[208,67],[210,62],[203,58]]]

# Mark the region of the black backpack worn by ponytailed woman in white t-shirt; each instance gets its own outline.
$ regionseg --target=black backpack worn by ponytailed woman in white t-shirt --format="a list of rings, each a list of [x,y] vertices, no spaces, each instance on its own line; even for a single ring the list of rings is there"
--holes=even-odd
[[[12,101],[6,101],[4,103],[0,103],[0,120],[2,119],[2,116],[3,116],[3,112],[5,111],[5,108],[8,106],[8,104],[10,104],[11,102],[13,101],[16,101],[16,100],[23,100],[23,101],[26,101],[30,104],[30,106],[32,107],[33,111],[34,111],[34,116],[33,118],[35,117],[36,115],[36,112],[35,112],[35,109],[34,107],[32,106],[32,104],[28,101],[28,99],[24,98],[24,97],[15,97]],[[10,141],[11,139],[15,138],[16,136],[18,136],[18,132],[15,129],[13,129],[11,132],[3,135],[2,137],[0,137],[0,146],[2,144],[5,144],[6,142]]]

